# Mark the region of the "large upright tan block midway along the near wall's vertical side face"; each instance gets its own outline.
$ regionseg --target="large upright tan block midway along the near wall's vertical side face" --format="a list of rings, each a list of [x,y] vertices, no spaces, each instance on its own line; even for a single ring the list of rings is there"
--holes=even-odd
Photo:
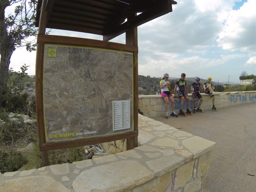
[[[193,160],[177,168],[174,181],[174,190],[185,185],[185,183],[192,178],[194,163],[195,161]]]

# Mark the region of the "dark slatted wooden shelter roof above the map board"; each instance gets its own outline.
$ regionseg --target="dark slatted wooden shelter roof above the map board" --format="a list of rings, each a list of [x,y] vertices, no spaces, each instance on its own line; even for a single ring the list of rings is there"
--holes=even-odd
[[[46,28],[102,35],[103,40],[172,12],[177,4],[173,0],[38,0],[36,27],[42,1],[47,1]]]

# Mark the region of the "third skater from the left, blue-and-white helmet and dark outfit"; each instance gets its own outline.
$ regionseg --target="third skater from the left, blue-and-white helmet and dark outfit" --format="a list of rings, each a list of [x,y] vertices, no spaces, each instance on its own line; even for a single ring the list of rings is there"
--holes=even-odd
[[[198,112],[202,112],[201,110],[201,104],[203,102],[203,97],[202,95],[200,94],[200,91],[199,91],[199,88],[201,88],[201,91],[203,92],[203,87],[201,86],[200,84],[200,78],[199,77],[196,77],[195,78],[195,82],[193,82],[191,84],[191,92],[192,92],[192,95],[194,97],[194,112],[196,113],[196,111]],[[196,108],[196,105],[197,105],[197,97],[199,99],[199,103],[198,103],[198,108]]]

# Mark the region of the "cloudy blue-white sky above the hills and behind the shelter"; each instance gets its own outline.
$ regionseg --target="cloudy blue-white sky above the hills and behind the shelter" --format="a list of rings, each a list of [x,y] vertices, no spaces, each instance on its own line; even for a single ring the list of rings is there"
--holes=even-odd
[[[239,83],[242,72],[256,75],[255,0],[177,0],[173,12],[138,27],[139,75],[199,76]],[[6,15],[13,10],[6,9]],[[51,35],[102,40],[88,33],[51,30]],[[125,44],[125,34],[110,40]],[[17,49],[10,67],[26,63],[35,74],[36,51]]]

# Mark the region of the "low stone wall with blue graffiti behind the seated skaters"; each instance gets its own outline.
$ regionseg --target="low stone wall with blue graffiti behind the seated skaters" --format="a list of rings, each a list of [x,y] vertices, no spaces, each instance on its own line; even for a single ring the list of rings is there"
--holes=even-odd
[[[211,110],[212,100],[208,94],[201,94],[203,97],[203,103],[201,109],[203,111]],[[193,97],[189,96],[189,109],[194,108]],[[224,92],[215,93],[215,106],[218,109],[226,108],[232,105],[238,105],[243,103],[256,102],[256,91],[244,91],[244,92]],[[199,100],[197,100],[198,106]],[[159,117],[164,116],[165,113],[165,102],[161,95],[139,95],[139,109],[143,112],[146,117]],[[170,111],[170,103],[168,111]],[[183,109],[186,109],[186,101],[184,101]],[[175,98],[175,111],[178,113],[180,110],[180,99]]]

